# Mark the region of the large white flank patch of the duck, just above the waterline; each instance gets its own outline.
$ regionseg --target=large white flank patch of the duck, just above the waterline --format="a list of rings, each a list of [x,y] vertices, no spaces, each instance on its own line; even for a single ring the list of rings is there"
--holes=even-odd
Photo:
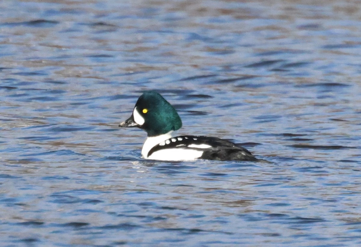
[[[147,159],[164,161],[196,160],[203,151],[183,148],[167,148],[152,153]]]

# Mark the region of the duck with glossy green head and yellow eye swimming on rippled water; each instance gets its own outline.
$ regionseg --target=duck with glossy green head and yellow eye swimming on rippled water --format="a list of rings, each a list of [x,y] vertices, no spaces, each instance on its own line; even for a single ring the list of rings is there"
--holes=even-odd
[[[174,107],[156,91],[145,91],[138,98],[131,116],[119,127],[147,132],[142,156],[158,161],[261,161],[247,149],[210,136],[181,135],[173,132],[182,127],[182,120]]]

